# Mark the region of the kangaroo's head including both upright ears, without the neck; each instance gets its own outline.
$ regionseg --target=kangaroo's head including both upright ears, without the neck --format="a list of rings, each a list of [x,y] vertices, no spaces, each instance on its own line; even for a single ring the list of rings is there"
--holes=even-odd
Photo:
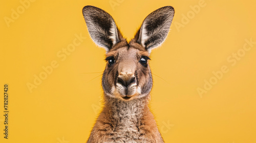
[[[106,50],[102,76],[105,95],[120,100],[148,96],[153,85],[149,56],[165,40],[174,8],[166,6],[149,14],[129,43],[109,13],[93,6],[84,7],[82,12],[92,40]]]

